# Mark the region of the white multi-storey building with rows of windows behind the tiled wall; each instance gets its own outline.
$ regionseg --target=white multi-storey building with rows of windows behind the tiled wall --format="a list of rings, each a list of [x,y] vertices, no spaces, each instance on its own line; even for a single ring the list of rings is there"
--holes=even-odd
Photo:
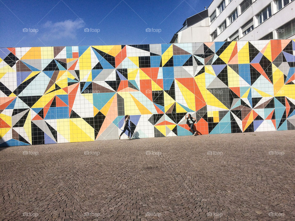
[[[295,38],[294,0],[213,0],[170,43]]]

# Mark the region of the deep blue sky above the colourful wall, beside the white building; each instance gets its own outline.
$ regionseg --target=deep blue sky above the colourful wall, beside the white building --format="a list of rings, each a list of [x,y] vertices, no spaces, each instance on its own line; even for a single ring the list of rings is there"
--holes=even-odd
[[[0,47],[169,43],[210,2],[0,0]]]

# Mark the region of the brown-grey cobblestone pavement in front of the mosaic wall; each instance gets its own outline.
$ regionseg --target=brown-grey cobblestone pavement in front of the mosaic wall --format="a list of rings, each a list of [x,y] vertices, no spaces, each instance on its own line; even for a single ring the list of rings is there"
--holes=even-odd
[[[0,151],[0,220],[295,220],[295,131]]]

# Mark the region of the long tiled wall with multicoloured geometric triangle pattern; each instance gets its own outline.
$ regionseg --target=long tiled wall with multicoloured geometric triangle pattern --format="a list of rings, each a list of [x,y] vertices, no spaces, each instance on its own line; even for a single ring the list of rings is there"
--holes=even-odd
[[[295,129],[294,40],[0,48],[1,146]],[[121,139],[127,138],[126,134]]]

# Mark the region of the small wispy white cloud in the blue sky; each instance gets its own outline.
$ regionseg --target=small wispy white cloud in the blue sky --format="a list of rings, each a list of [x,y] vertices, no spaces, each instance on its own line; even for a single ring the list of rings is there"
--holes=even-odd
[[[85,25],[84,21],[77,19],[75,21],[65,20],[53,23],[47,21],[44,24],[44,40],[70,38],[75,39],[77,36],[77,30]]]

